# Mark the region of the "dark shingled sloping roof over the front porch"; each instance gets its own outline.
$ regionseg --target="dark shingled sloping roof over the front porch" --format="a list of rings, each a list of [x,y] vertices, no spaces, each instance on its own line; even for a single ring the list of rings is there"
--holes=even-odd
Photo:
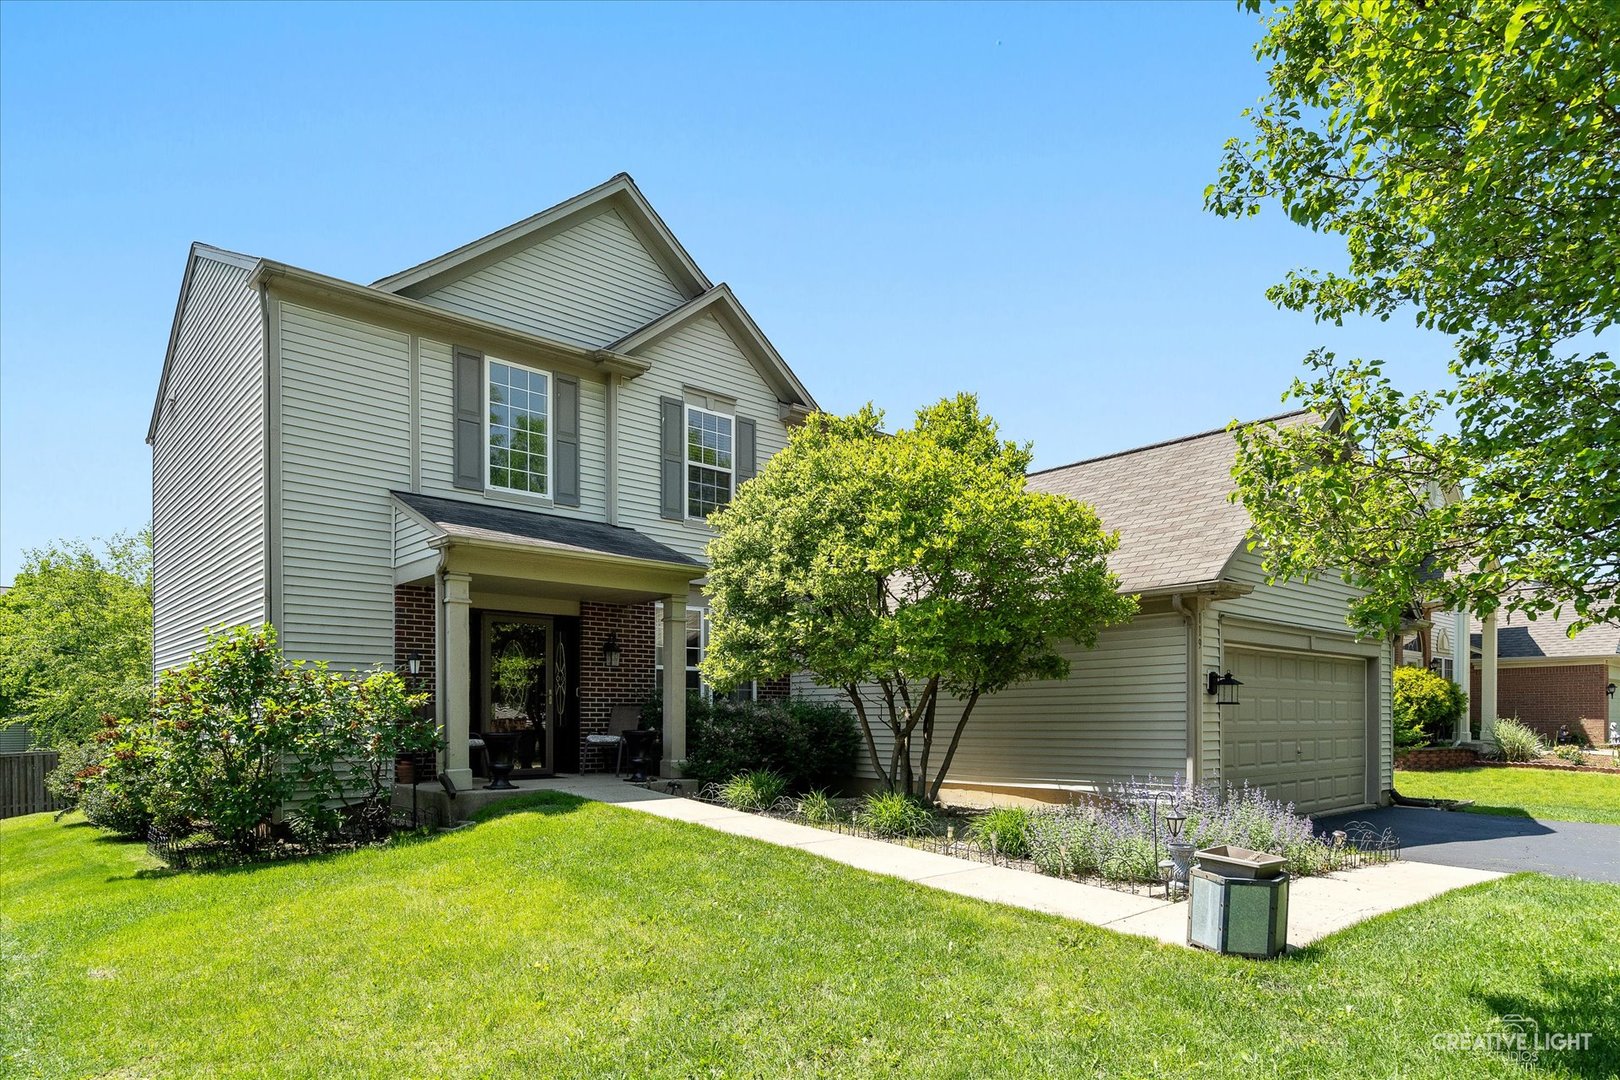
[[[651,536],[617,525],[408,491],[390,494],[423,525],[450,539],[515,544],[559,554],[612,555],[672,567],[703,567],[697,559]]]

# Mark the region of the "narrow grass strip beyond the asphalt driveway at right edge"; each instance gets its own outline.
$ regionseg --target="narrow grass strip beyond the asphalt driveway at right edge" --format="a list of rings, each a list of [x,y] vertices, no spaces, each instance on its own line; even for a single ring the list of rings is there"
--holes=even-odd
[[[1395,790],[1411,798],[1471,798],[1476,814],[1620,824],[1620,772],[1554,769],[1445,769],[1396,772]]]

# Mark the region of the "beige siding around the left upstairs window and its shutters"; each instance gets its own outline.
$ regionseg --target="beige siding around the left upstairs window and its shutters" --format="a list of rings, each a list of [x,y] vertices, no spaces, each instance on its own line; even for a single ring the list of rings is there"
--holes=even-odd
[[[476,497],[455,487],[452,347],[420,338],[416,363],[421,393],[421,487],[423,494],[447,499]],[[517,492],[496,492],[502,505],[544,513],[608,520],[608,381],[580,374],[580,505],[559,507],[549,499]],[[654,460],[656,466],[656,460]]]

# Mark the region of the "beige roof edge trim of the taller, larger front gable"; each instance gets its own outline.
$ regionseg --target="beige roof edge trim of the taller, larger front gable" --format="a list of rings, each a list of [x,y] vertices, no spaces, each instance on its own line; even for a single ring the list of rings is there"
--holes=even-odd
[[[512,251],[528,248],[546,236],[561,233],[586,217],[599,214],[608,206],[619,210],[630,230],[685,296],[698,296],[713,288],[713,283],[698,269],[698,264],[680,246],[680,241],[669,232],[669,227],[664,225],[664,219],[658,215],[653,204],[635,186],[630,173],[619,173],[590,191],[582,191],[572,199],[564,199],[533,217],[525,217],[522,222],[497,228],[488,236],[480,236],[454,251],[446,251],[407,270],[379,279],[371,287],[407,296],[429,293],[449,282],[467,277],[480,267],[497,262]]]

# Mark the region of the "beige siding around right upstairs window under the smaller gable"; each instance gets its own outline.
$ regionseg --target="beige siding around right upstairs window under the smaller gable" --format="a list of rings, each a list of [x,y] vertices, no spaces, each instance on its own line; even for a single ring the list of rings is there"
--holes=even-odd
[[[659,398],[701,393],[735,402],[735,415],[755,421],[760,468],[787,445],[787,427],[778,418],[776,393],[713,314],[698,316],[638,355],[653,368],[619,393],[619,523],[701,559],[710,528],[658,513]]]

